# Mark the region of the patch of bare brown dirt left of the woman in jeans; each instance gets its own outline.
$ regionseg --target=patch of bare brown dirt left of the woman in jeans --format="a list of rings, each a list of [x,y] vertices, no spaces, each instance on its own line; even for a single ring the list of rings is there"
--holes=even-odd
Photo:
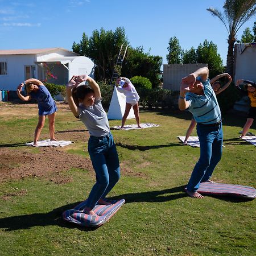
[[[35,154],[26,150],[2,147],[0,163],[0,182],[32,176],[45,177],[62,184],[72,181],[72,177],[63,175],[63,171],[71,168],[88,170],[93,173],[90,159],[69,154],[59,148],[40,148],[40,154]]]

